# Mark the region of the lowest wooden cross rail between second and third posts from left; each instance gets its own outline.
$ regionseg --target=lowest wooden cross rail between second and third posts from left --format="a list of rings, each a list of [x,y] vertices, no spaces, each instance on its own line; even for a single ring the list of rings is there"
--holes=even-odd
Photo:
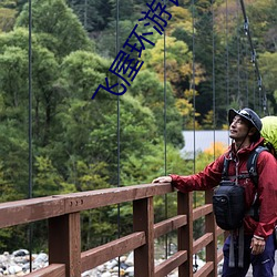
[[[155,277],[167,276],[172,270],[184,264],[186,260],[187,252],[182,250],[175,253],[172,257],[155,267]]]

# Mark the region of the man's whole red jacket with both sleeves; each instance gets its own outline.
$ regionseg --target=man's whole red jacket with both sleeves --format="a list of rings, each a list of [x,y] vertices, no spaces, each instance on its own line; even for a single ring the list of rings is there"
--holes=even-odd
[[[228,176],[236,175],[236,162],[238,175],[247,174],[247,160],[249,153],[263,145],[264,138],[253,143],[247,148],[242,148],[235,154],[232,148],[207,165],[204,171],[195,175],[179,176],[171,175],[172,184],[181,192],[206,191],[219,184],[224,167],[224,157],[232,158],[229,162]],[[274,230],[277,223],[277,160],[267,151],[263,151],[257,160],[258,172],[258,199],[259,222],[255,222],[249,215],[244,219],[245,234],[257,235],[267,238]],[[250,178],[238,179],[238,184],[245,187],[245,204],[248,209],[255,197],[256,188]]]

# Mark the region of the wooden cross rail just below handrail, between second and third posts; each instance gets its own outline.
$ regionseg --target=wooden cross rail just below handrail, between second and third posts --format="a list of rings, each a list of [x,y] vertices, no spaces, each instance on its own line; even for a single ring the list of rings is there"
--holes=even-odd
[[[186,223],[187,223],[186,215],[177,215],[161,223],[156,223],[154,225],[154,232],[155,232],[154,237],[158,238],[174,229],[177,229],[186,225]]]

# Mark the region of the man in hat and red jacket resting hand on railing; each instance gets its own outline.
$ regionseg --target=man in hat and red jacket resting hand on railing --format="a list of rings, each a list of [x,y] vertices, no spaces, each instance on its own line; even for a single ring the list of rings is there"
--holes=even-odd
[[[224,160],[229,160],[228,176],[236,179],[238,185],[245,187],[245,205],[250,211],[255,195],[259,205],[258,219],[249,214],[244,218],[244,263],[238,266],[238,238],[233,235],[235,244],[235,267],[229,267],[230,236],[224,243],[223,277],[246,276],[249,265],[253,266],[254,277],[274,276],[275,240],[274,228],[277,223],[277,162],[276,158],[263,151],[257,160],[258,188],[247,176],[247,161],[250,153],[264,144],[260,137],[261,121],[250,109],[240,111],[229,110],[229,137],[233,143],[227,152],[207,165],[204,171],[189,176],[171,174],[157,177],[153,183],[172,183],[183,193],[192,191],[206,191],[219,184],[224,168]]]

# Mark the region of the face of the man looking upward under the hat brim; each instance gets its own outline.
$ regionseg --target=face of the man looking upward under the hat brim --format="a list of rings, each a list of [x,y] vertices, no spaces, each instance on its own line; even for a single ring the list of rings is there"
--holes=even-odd
[[[229,125],[229,137],[237,142],[244,141],[248,132],[248,122],[244,117],[236,115]]]

